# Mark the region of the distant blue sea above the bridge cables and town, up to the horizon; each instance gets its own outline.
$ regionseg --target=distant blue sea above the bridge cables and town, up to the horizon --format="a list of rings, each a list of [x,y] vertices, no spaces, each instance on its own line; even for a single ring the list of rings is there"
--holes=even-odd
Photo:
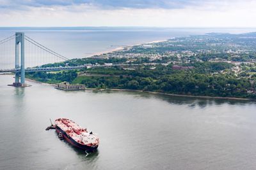
[[[72,58],[83,58],[93,53],[106,52],[118,46],[136,45],[177,36],[205,34],[207,32],[253,32],[255,28],[154,28],[154,27],[0,27],[0,40],[25,32],[51,50]],[[39,55],[39,54],[38,54]]]

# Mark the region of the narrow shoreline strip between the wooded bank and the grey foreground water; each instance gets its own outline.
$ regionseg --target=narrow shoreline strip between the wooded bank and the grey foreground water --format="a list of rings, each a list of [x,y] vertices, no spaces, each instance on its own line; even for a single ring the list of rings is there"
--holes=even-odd
[[[52,87],[55,87],[56,84],[49,84],[49,83],[43,83],[36,80],[31,80],[29,78],[26,78],[27,81],[31,81],[33,83],[39,83],[41,85],[50,85]],[[193,95],[184,95],[184,94],[170,94],[170,93],[163,93],[163,92],[150,92],[150,91],[144,91],[144,90],[131,90],[131,89],[96,89],[96,88],[86,88],[85,90],[99,90],[99,91],[105,91],[105,90],[112,90],[112,91],[119,91],[119,92],[146,92],[148,94],[161,94],[165,96],[175,96],[175,97],[191,97],[191,98],[201,98],[201,99],[228,99],[228,100],[236,100],[236,101],[253,101],[253,99],[249,98],[240,98],[240,97],[218,97],[218,96],[193,96]],[[81,91],[81,90],[72,90],[72,91]]]

